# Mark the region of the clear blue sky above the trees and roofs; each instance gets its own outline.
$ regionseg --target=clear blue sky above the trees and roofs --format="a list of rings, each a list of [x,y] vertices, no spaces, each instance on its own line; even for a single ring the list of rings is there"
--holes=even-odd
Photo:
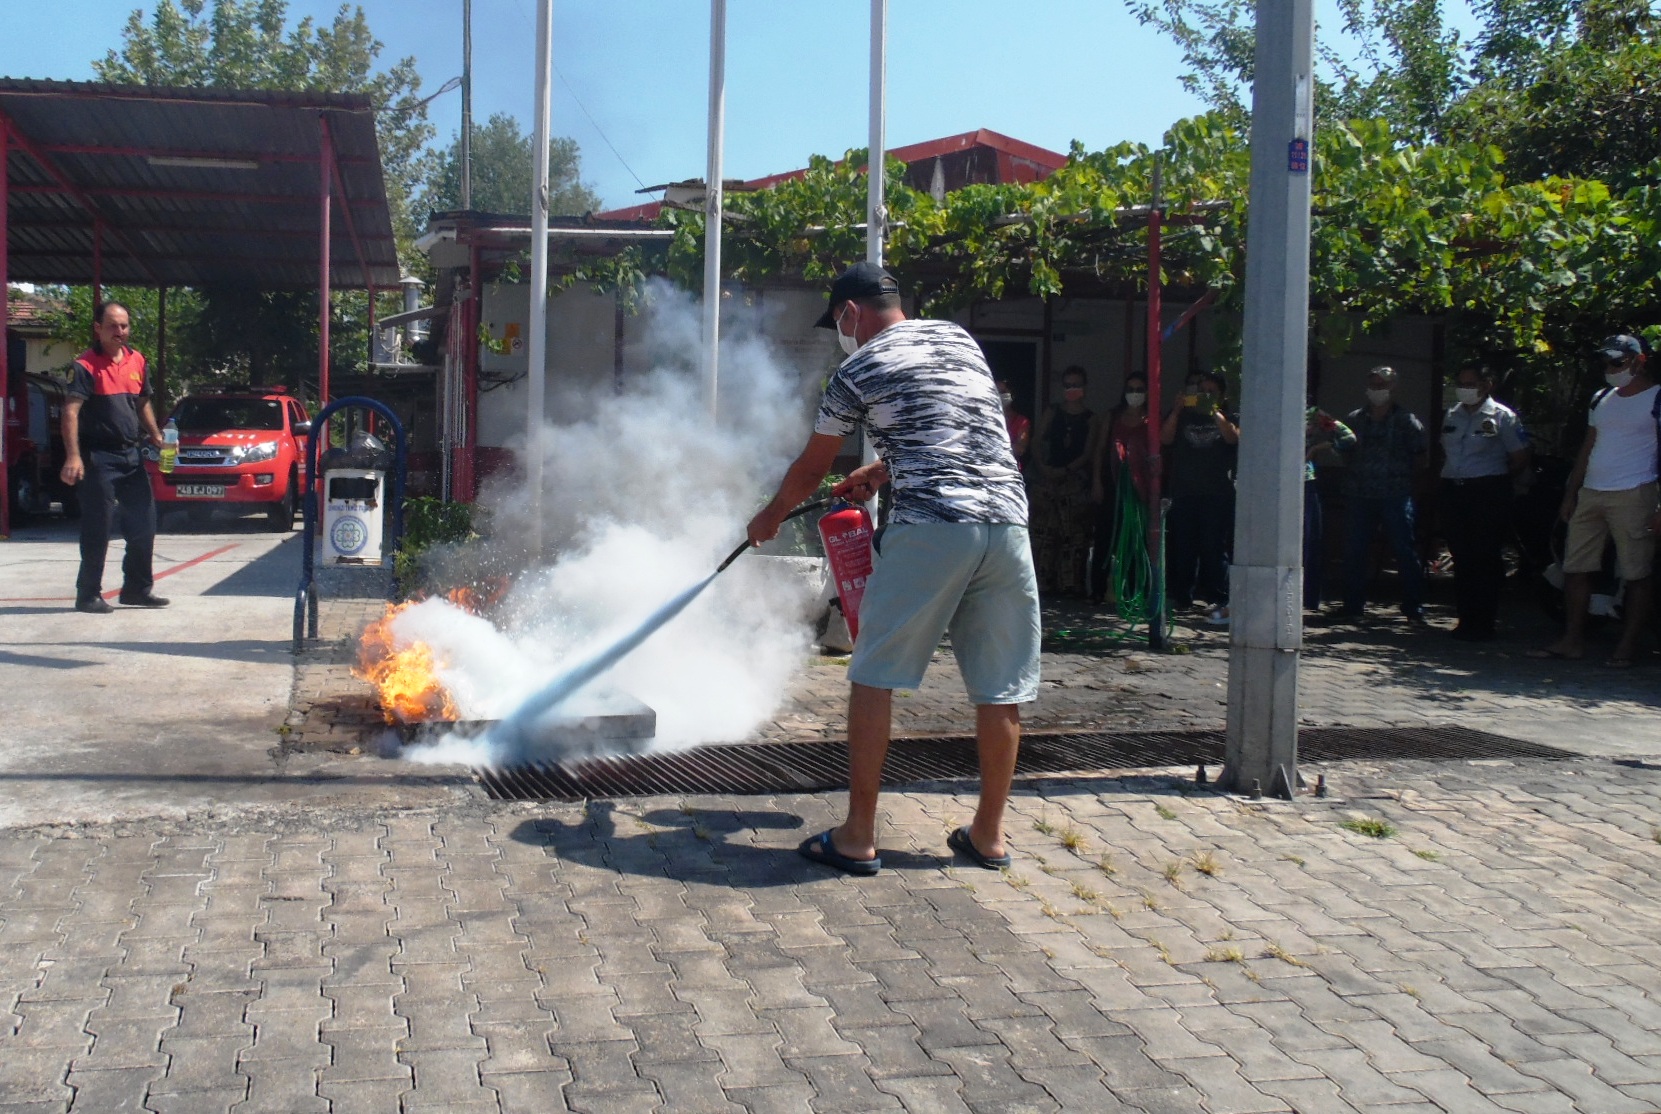
[[[0,75],[65,80],[91,78],[93,60],[120,46],[128,13],[153,7],[0,3]],[[412,55],[429,93],[462,71],[462,0],[360,3],[385,45],[382,63]],[[292,18],[326,22],[337,8],[337,0],[289,0]],[[530,129],[535,13],[535,0],[473,0],[477,120],[507,111]],[[869,13],[867,0],[728,2],[728,178],[865,144]],[[643,199],[636,174],[644,184],[703,176],[706,2],[556,0],[553,35],[563,75],[553,83],[553,131],[578,141],[583,178],[610,206]],[[1179,66],[1176,50],[1120,0],[890,0],[889,144],[975,128],[1063,153],[1071,139],[1156,143],[1199,110]],[[460,93],[435,100],[430,118],[447,139],[460,125]]]

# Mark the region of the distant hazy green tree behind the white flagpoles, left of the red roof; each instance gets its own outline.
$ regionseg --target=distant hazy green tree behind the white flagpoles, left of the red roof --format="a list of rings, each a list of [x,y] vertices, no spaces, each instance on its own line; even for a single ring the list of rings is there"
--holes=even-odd
[[[493,115],[485,126],[473,128],[473,196],[480,213],[528,213],[532,156],[535,141],[520,131],[508,113]],[[462,138],[435,154],[435,168],[422,193],[422,208],[443,213],[462,208]],[[548,211],[580,216],[601,206],[600,194],[580,178],[581,154],[575,139],[553,138],[548,143]]]

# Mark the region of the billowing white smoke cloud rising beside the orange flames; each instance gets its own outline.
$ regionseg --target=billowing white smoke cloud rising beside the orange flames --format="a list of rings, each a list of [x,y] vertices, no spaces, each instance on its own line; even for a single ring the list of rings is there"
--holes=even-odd
[[[576,415],[541,432],[541,518],[555,553],[495,609],[505,629],[437,599],[394,621],[400,641],[434,647],[463,719],[505,717],[709,576],[807,435],[817,375],[809,384],[782,365],[754,314],[723,319],[719,422],[703,398],[698,304],[658,284],[646,314],[654,370],[620,392],[606,382],[555,395],[558,413]],[[522,545],[532,511],[523,485],[487,488],[482,503],[493,543]],[[816,599],[801,568],[744,556],[560,711],[585,714],[616,689],[656,712],[659,747],[742,739],[777,709],[806,656]],[[457,739],[407,757],[490,759],[483,742]]]

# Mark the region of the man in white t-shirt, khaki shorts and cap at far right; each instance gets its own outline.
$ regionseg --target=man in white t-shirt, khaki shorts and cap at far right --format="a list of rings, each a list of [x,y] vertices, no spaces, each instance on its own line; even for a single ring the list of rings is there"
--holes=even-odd
[[[1656,530],[1661,530],[1656,468],[1661,448],[1658,392],[1649,377],[1644,345],[1636,337],[1608,337],[1598,345],[1608,390],[1593,398],[1586,442],[1563,495],[1568,545],[1563,573],[1568,583],[1563,601],[1568,626],[1563,638],[1533,657],[1583,657],[1586,654],[1586,604],[1591,574],[1603,568],[1603,550],[1614,538],[1614,558],[1626,581],[1621,641],[1610,656],[1611,666],[1631,666],[1638,639],[1649,619],[1654,593]]]

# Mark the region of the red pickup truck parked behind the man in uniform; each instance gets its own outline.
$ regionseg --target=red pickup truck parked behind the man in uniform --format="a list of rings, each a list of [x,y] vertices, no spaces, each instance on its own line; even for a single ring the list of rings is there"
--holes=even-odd
[[[179,427],[179,460],[173,471],[148,465],[156,510],[188,506],[198,518],[214,506],[262,510],[271,530],[294,530],[311,488],[311,420],[297,398],[276,387],[189,395],[169,417]]]

